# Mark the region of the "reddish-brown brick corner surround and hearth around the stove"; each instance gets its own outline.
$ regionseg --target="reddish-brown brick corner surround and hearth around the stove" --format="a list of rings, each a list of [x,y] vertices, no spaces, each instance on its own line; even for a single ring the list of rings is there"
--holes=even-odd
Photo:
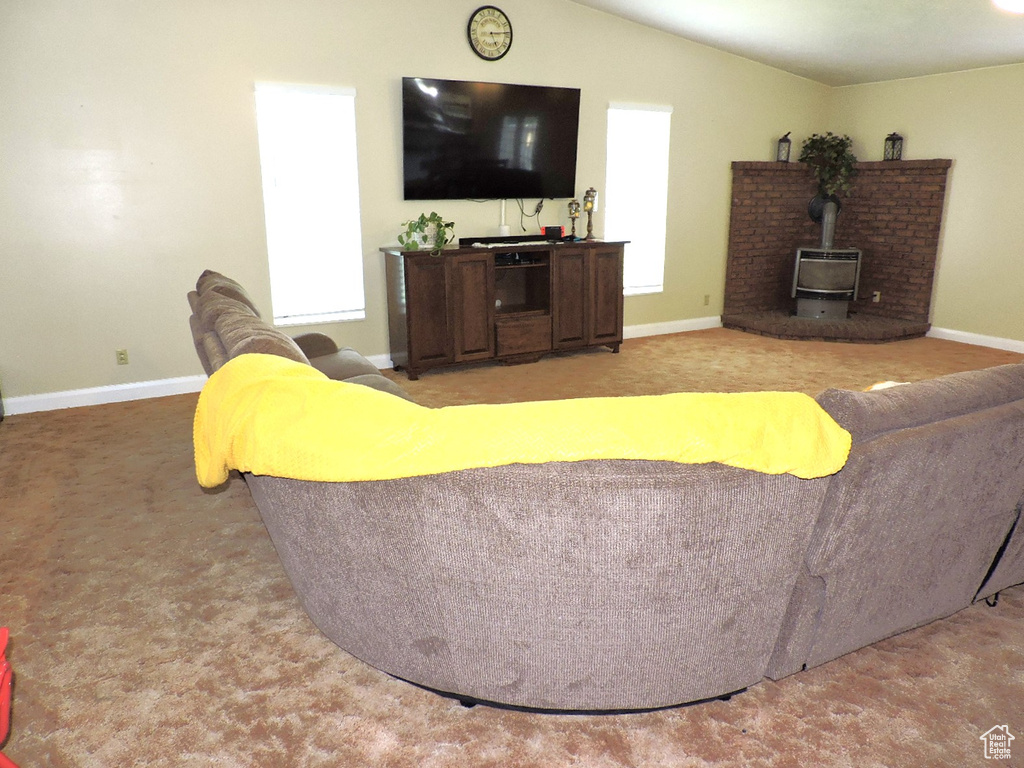
[[[732,215],[722,325],[780,339],[884,342],[931,328],[932,283],[950,160],[857,163],[836,226],[837,248],[863,252],[846,321],[797,317],[797,248],[816,248],[816,191],[802,163],[732,164]],[[881,301],[872,302],[874,292]]]

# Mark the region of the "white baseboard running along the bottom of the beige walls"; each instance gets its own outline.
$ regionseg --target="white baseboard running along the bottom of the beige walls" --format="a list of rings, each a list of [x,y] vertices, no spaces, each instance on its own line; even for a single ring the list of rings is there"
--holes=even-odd
[[[686,333],[687,331],[705,331],[710,328],[721,328],[722,318],[693,317],[691,319],[672,321],[670,323],[652,323],[643,326],[628,326],[623,329],[623,338],[639,339],[643,336],[662,336],[665,334]],[[1024,354],[1024,341],[1000,339],[995,336],[982,336],[964,331],[952,331],[944,328],[933,328],[928,335],[936,339],[958,341],[964,344],[1005,349],[1010,352]],[[392,368],[390,354],[375,354],[368,357],[377,368]],[[45,392],[43,394],[28,394],[20,397],[5,397],[4,412],[9,416],[15,414],[31,414],[37,411],[57,411],[65,408],[80,408],[82,406],[103,406],[108,402],[125,402],[127,400],[142,400],[148,397],[166,397],[172,394],[198,392],[206,383],[206,376],[181,376],[176,379],[159,379],[157,381],[138,381],[131,384],[113,384],[104,387],[88,389],[70,389],[63,392]]]

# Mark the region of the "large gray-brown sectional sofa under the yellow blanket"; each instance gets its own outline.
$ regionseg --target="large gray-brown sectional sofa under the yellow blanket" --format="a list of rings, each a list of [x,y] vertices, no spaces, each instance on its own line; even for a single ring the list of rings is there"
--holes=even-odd
[[[204,273],[190,296],[208,370],[247,351],[299,359],[308,342],[237,291]],[[666,707],[1024,582],[1024,365],[818,401],[854,444],[812,480],[621,460],[246,481],[310,617],[365,662],[465,700]]]

